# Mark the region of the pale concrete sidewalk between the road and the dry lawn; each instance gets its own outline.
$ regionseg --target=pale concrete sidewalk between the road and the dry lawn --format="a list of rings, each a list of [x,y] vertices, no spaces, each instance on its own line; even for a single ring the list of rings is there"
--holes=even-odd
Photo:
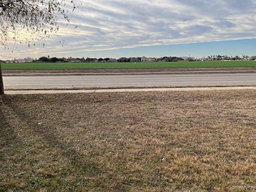
[[[99,93],[99,92],[143,92],[143,91],[210,91],[210,90],[246,90],[256,86],[236,87],[185,87],[185,88],[120,88],[89,90],[6,90],[5,94],[56,94],[56,93]]]

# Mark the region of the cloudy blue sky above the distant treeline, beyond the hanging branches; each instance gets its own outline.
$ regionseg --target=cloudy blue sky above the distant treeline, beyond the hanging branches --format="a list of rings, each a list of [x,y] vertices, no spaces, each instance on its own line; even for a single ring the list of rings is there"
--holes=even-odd
[[[80,2],[57,34],[30,48],[0,50],[0,59],[256,55],[256,0]]]

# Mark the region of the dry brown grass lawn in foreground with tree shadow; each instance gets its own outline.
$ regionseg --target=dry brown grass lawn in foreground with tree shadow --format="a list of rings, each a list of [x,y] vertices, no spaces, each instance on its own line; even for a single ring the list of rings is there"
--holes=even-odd
[[[0,96],[0,191],[256,191],[256,91]]]

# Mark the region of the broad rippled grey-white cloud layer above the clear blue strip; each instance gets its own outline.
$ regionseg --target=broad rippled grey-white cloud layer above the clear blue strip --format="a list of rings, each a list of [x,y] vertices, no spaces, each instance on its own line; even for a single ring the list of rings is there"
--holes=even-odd
[[[47,48],[32,47],[30,56],[256,37],[255,0],[80,1],[70,24],[61,23]],[[12,56],[24,56],[24,50],[18,46]]]

